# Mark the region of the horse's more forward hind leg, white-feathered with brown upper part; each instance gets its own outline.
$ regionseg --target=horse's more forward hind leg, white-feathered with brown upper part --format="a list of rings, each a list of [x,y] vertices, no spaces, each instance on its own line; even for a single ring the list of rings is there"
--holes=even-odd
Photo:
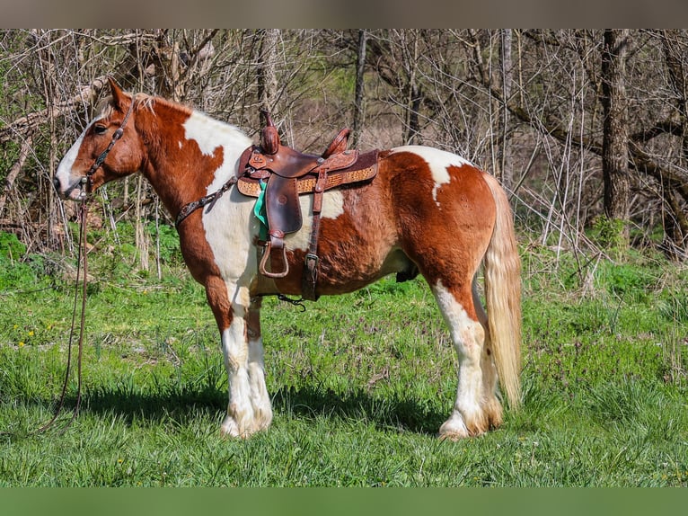
[[[470,282],[463,287],[445,287],[441,280],[432,286],[459,358],[459,378],[452,415],[439,429],[440,437],[461,439],[480,435],[490,428],[490,411],[485,410],[482,362],[485,330],[473,307]],[[490,377],[490,374],[487,375]]]

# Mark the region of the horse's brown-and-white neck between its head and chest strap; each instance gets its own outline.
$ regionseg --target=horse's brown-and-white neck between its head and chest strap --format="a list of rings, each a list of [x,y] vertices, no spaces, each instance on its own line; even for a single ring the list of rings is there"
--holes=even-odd
[[[184,204],[218,190],[234,173],[251,138],[200,111],[155,108],[144,173],[172,215]],[[174,120],[170,123],[169,120]]]

